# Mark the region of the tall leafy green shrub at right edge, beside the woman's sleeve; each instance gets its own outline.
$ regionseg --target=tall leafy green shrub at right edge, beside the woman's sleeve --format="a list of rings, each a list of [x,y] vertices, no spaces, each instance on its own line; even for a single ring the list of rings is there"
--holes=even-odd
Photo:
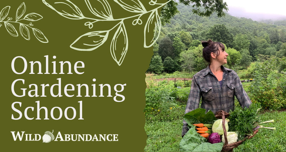
[[[260,102],[264,109],[281,109],[286,105],[286,75],[277,72],[277,59],[256,62],[255,81],[250,88],[250,98]]]

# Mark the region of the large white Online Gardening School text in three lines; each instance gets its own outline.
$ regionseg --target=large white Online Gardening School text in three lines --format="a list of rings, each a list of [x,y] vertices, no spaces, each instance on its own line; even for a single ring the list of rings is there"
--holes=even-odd
[[[58,63],[56,61],[49,62],[49,56],[45,55],[45,63],[41,63],[40,61],[30,61],[30,73],[29,74],[35,74],[34,69],[38,68],[37,74],[83,74],[84,71],[82,70],[85,67],[84,62],[77,61],[73,65],[73,71],[72,71],[72,63],[70,61],[59,61]],[[56,59],[56,56],[53,56],[53,59]],[[42,66],[45,64],[45,73],[42,72]],[[52,73],[49,71],[49,65],[52,65]],[[17,66],[16,66],[17,65]],[[64,66],[65,65],[65,66]],[[25,74],[27,72],[27,69],[29,68],[28,62],[25,57],[17,56],[14,57],[11,63],[12,71],[15,74]],[[57,68],[60,67],[60,68]],[[65,67],[65,68],[64,68]],[[66,69],[68,67],[68,69]],[[67,73],[65,73],[67,72]],[[62,84],[62,79],[57,78],[55,80],[55,83],[53,84],[32,84],[29,83],[29,85],[25,84],[25,79],[16,79],[12,82],[11,85],[11,91],[12,94],[15,97],[105,97],[104,94],[107,94],[106,97],[113,97],[111,95],[111,86],[110,84],[99,84],[96,85],[94,82],[96,81],[95,78],[92,79],[92,84]],[[125,100],[125,96],[119,94],[118,92],[124,91],[124,86],[126,84],[116,84],[113,86],[113,90],[115,92],[115,95],[113,97],[113,101],[115,102],[123,102]],[[98,89],[96,89],[98,88]],[[46,92],[46,90],[49,90]],[[84,91],[82,91],[84,90]],[[99,92],[99,95],[96,94]],[[99,90],[99,91],[98,91]],[[108,93],[106,93],[106,91]],[[40,107],[40,101],[36,101],[37,103],[37,118],[36,120],[40,120],[40,110],[45,111],[45,118],[48,118],[48,110],[47,107]],[[79,103],[79,118],[80,120],[83,119],[82,117],[82,101],[78,101]],[[19,114],[19,117],[16,117],[12,114],[12,119],[19,120],[22,118],[23,114],[16,107],[21,107],[22,102],[13,102],[12,103],[12,109]],[[30,109],[30,110],[29,110]],[[72,109],[73,116],[68,117],[68,109]],[[59,112],[58,118],[55,118],[54,116],[54,110],[57,110]],[[34,111],[34,107],[27,107],[24,111],[24,116],[28,120],[32,120],[33,118],[30,118],[28,116],[28,111]],[[51,109],[51,118],[54,120],[59,120],[63,116],[63,110],[60,107],[53,107]],[[67,107],[64,110],[64,116],[68,120],[75,119],[76,117],[76,109],[74,107]],[[16,118],[15,118],[16,117]]]

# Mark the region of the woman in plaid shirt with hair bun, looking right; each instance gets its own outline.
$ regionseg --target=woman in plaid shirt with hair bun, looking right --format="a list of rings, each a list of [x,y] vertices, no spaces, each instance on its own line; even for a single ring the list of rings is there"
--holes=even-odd
[[[234,96],[242,108],[249,107],[251,101],[242,88],[238,75],[235,71],[222,66],[227,64],[228,57],[224,45],[212,40],[204,41],[202,45],[203,57],[210,64],[193,76],[185,114],[197,109],[201,98],[201,108],[206,111],[211,110],[214,114],[218,110],[226,112],[233,110]],[[187,125],[184,120],[182,136],[189,130]]]

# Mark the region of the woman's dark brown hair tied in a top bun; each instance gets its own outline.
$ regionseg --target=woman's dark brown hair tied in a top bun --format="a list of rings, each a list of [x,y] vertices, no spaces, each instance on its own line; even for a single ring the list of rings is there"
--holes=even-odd
[[[211,62],[211,53],[215,53],[217,55],[219,55],[219,51],[218,51],[218,47],[221,47],[221,49],[224,51],[225,50],[225,46],[220,43],[220,42],[213,42],[212,40],[208,40],[208,41],[203,41],[202,42],[203,45],[203,57],[204,60],[206,60],[207,62]]]

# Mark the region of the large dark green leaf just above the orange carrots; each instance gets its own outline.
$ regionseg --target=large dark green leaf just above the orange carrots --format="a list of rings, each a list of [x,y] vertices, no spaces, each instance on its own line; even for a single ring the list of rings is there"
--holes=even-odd
[[[203,108],[197,108],[186,113],[184,119],[189,125],[196,123],[213,124],[214,120],[216,120],[215,115],[211,110],[206,113],[206,109]]]

